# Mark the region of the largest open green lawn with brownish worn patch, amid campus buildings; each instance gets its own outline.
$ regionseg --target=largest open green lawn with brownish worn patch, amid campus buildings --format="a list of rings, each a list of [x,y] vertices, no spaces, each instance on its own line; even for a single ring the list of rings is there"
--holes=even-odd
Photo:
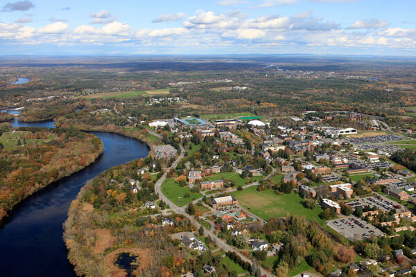
[[[318,216],[323,210],[317,206],[314,210],[302,205],[302,198],[296,194],[277,195],[272,190],[257,191],[255,186],[236,191],[232,195],[241,204],[250,206],[250,212],[269,220],[270,217],[284,217],[286,213],[291,215],[304,215],[308,220],[316,220],[324,226],[323,220]]]

